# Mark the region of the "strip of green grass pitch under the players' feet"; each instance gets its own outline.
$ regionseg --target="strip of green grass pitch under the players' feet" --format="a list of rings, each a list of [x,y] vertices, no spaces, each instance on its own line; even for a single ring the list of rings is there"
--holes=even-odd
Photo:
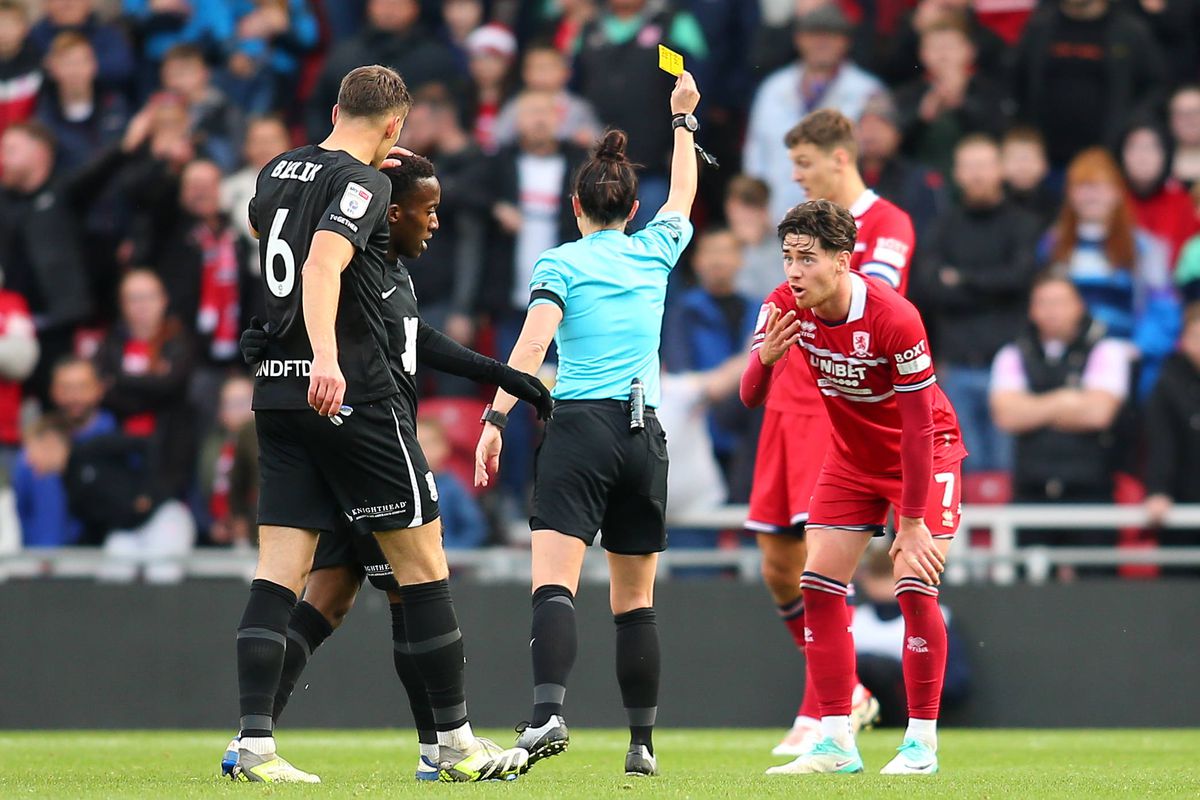
[[[234,784],[216,764],[228,733],[0,732],[0,798],[1198,798],[1200,730],[946,730],[942,774],[877,775],[899,732],[859,739],[868,774],[766,777],[779,730],[664,730],[662,775],[622,774],[625,734],[575,730],[571,748],[514,783],[413,780],[415,744],[396,730],[288,730],[283,754],[322,786]],[[511,734],[492,734],[509,741]]]

